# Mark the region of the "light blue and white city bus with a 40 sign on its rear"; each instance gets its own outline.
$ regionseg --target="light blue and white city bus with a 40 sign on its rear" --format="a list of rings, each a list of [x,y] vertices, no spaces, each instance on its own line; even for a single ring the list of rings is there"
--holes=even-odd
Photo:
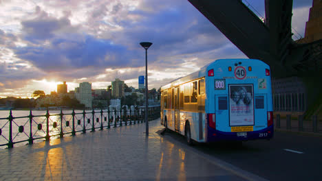
[[[269,140],[274,134],[270,67],[219,59],[161,87],[161,124],[193,141]]]

